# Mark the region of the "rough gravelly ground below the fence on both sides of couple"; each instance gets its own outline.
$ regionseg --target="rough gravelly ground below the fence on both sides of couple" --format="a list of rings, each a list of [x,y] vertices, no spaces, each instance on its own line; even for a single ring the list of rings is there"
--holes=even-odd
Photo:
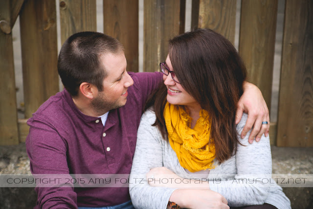
[[[273,174],[313,174],[313,147],[271,147]],[[31,174],[25,144],[0,146],[0,174]],[[313,209],[313,188],[284,187],[292,209]],[[21,198],[22,197],[22,198]],[[0,209],[35,206],[34,188],[0,187]]]

